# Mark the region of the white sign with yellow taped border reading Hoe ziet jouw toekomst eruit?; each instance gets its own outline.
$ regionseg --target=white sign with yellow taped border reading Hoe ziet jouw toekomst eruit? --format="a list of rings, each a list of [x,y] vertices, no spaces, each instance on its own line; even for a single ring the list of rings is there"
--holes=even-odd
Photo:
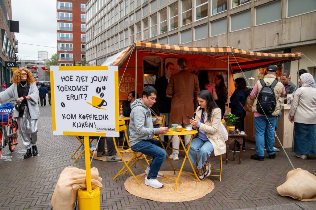
[[[119,136],[117,66],[52,66],[54,135]]]

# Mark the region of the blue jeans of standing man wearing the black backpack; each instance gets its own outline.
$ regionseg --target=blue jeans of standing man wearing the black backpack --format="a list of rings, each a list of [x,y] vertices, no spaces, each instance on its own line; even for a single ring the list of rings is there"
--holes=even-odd
[[[268,118],[268,119],[267,119]],[[267,115],[254,117],[254,124],[256,129],[256,154],[264,156],[264,145],[266,145],[267,153],[274,154],[276,151],[274,146],[274,129],[276,127],[276,116]],[[272,125],[270,125],[270,123]]]

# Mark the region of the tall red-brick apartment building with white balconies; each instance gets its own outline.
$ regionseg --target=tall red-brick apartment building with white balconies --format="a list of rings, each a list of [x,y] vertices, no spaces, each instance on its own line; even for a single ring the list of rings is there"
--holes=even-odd
[[[87,0],[57,1],[58,66],[85,65]]]

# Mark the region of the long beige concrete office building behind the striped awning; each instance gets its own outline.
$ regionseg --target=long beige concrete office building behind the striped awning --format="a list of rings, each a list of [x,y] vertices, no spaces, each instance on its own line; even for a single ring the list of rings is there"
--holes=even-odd
[[[87,63],[100,65],[135,40],[301,51],[316,63],[315,0],[88,0],[86,8]],[[315,74],[315,64],[302,57],[300,68]],[[297,61],[283,66],[292,81],[297,68]]]

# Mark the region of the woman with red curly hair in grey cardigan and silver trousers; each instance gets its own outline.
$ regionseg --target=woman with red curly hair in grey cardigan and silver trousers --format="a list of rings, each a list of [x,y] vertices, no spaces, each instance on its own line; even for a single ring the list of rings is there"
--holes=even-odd
[[[0,93],[0,103],[13,98],[17,103],[25,105],[23,111],[16,110],[13,113],[13,119],[18,123],[22,142],[27,149],[24,158],[29,158],[32,154],[36,156],[38,154],[36,147],[37,120],[40,117],[40,110],[37,105],[39,91],[31,71],[24,67],[14,72],[11,82],[13,84]]]

